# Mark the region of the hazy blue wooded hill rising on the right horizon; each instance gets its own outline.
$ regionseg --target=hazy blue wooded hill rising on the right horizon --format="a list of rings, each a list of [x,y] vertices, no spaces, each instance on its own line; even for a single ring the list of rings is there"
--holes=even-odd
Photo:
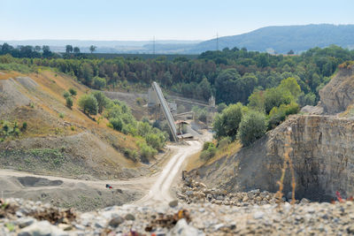
[[[314,47],[324,48],[331,44],[354,49],[354,25],[335,26],[329,24],[262,27],[247,34],[219,38],[219,49],[237,47],[249,50],[296,53]],[[190,53],[201,53],[217,49],[216,39],[198,43]]]

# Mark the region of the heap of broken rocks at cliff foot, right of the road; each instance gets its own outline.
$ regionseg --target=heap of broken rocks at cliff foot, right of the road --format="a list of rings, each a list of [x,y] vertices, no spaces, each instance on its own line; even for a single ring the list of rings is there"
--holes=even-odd
[[[227,194],[226,191],[208,188],[204,183],[196,182],[194,179],[185,179],[179,191],[176,193],[177,198],[181,201],[192,202],[211,202],[218,205],[232,205],[237,207],[245,207],[249,205],[266,205],[275,204],[277,199],[275,194],[267,191],[261,192],[259,189],[251,190],[250,192],[240,192]],[[281,199],[281,202],[286,199]],[[304,199],[303,202],[306,200]]]

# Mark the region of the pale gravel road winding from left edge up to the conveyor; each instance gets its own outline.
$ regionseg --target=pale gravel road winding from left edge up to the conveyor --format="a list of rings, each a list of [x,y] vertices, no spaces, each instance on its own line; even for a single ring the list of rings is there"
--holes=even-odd
[[[127,180],[84,180],[84,179],[68,179],[63,177],[54,177],[46,175],[36,175],[26,171],[13,171],[0,169],[0,198],[1,197],[23,197],[28,199],[41,199],[42,194],[54,195],[58,201],[63,201],[73,194],[76,190],[77,194],[89,193],[106,193],[105,184],[109,183],[113,189],[120,189],[126,195],[119,195],[119,202],[129,202],[127,204],[147,206],[153,203],[170,202],[173,200],[170,194],[174,180],[180,177],[182,164],[186,159],[196,153],[201,147],[200,141],[186,141],[188,145],[170,145],[168,148],[172,150],[172,155],[166,161],[163,171],[155,173],[150,177],[142,177],[138,179]],[[19,183],[19,179],[27,179],[28,181],[41,180],[40,185],[31,186]],[[51,185],[50,182],[57,181],[57,185]],[[48,184],[46,184],[48,183]],[[86,190],[91,192],[87,193]],[[93,191],[93,192],[92,192]],[[85,193],[82,193],[85,192]],[[108,191],[110,193],[110,191]],[[137,193],[143,197],[139,197],[135,202],[129,198],[129,194]],[[95,197],[95,196],[92,196]],[[104,197],[104,194],[100,197]],[[110,195],[105,196],[110,198]],[[120,199],[121,198],[121,199]]]

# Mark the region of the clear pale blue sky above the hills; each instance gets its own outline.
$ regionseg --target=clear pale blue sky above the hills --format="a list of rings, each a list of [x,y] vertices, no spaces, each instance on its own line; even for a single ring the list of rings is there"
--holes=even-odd
[[[0,0],[0,40],[205,40],[319,23],[354,24],[354,0]]]

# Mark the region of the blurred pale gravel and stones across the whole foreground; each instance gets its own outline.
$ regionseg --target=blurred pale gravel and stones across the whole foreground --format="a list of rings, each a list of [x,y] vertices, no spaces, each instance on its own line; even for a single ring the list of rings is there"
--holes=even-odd
[[[113,206],[80,213],[7,199],[0,235],[352,235],[354,203],[217,205],[211,202]]]

